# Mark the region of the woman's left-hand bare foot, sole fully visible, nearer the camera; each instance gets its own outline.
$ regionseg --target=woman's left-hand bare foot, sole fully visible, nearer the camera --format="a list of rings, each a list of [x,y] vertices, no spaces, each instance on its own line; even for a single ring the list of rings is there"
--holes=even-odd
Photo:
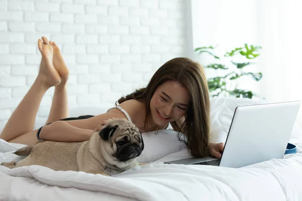
[[[61,77],[52,64],[53,48],[46,37],[43,36],[42,40],[38,40],[42,59],[37,78],[40,78],[48,87],[55,86],[61,82]]]

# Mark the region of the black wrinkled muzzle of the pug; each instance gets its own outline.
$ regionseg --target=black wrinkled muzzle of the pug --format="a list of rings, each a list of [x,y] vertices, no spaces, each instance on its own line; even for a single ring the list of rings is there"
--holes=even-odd
[[[116,158],[119,159],[120,161],[127,161],[132,158],[135,158],[141,154],[141,148],[137,144],[132,144],[129,146],[121,147],[118,149],[116,153]]]

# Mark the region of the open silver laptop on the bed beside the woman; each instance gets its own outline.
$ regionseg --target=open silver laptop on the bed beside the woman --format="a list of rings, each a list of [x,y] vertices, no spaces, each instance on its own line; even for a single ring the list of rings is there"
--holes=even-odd
[[[222,156],[167,161],[239,168],[284,157],[300,100],[236,108]]]

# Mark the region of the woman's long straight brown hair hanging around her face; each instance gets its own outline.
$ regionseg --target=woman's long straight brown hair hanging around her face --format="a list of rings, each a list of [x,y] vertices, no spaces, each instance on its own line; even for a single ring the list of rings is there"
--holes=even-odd
[[[171,122],[178,138],[184,142],[195,157],[209,155],[210,101],[207,80],[202,66],[189,58],[174,58],[162,65],[153,75],[146,87],[121,97],[118,104],[129,99],[145,103],[146,128],[150,117],[150,100],[161,84],[168,80],[179,82],[190,93],[190,105],[184,118]],[[185,138],[183,138],[185,134]]]

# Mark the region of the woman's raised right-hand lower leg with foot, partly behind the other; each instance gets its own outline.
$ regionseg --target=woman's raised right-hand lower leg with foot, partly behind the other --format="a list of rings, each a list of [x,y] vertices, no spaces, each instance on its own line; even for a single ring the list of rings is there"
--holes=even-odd
[[[49,42],[53,47],[53,66],[61,77],[61,83],[55,86],[50,113],[46,124],[68,117],[67,86],[69,71],[64,62],[60,49],[55,42]]]

